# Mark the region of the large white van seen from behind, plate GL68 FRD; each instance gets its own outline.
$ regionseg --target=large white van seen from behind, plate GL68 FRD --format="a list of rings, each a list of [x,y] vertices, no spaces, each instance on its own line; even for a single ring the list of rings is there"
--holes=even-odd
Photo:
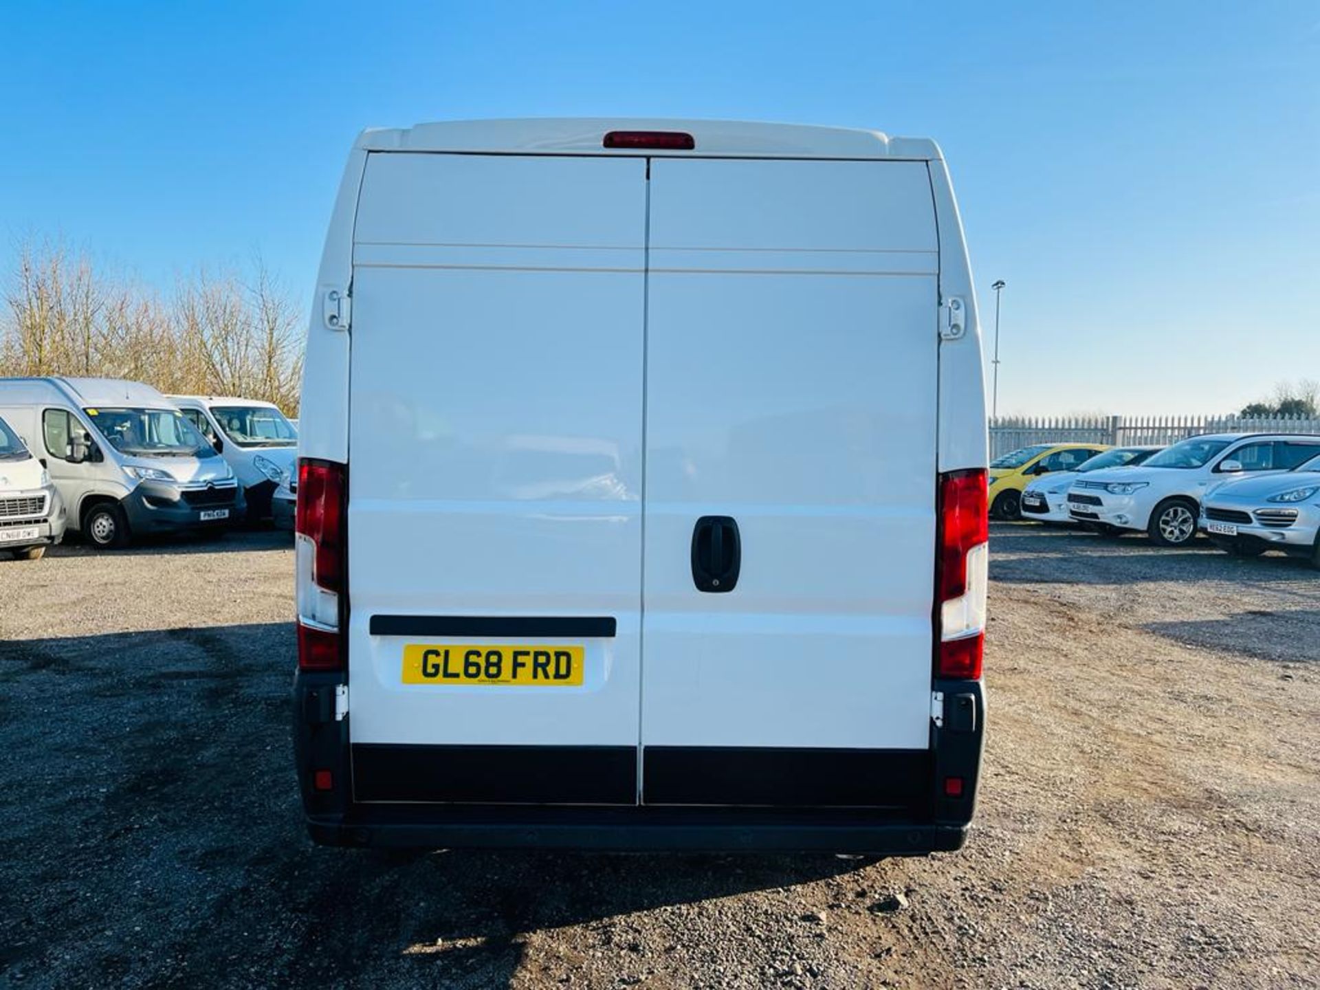
[[[986,418],[933,143],[367,131],[302,418],[317,841],[962,843]]]

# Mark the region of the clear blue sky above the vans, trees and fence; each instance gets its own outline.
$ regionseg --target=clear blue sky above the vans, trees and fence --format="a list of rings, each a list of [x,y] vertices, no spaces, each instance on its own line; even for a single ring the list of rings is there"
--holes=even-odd
[[[42,3],[0,40],[0,268],[309,294],[364,125],[788,120],[936,137],[999,408],[1220,412],[1320,379],[1316,3]]]

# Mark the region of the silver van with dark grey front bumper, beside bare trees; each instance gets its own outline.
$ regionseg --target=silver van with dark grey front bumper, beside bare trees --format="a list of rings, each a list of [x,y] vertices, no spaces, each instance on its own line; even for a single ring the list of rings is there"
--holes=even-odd
[[[69,525],[98,548],[223,529],[243,513],[234,473],[150,385],[106,378],[0,379],[0,416],[50,473]]]

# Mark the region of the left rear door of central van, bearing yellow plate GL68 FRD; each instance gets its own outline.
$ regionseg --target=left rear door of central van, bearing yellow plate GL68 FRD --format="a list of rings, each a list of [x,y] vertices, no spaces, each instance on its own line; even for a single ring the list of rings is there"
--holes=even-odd
[[[635,804],[645,161],[372,153],[356,801]]]

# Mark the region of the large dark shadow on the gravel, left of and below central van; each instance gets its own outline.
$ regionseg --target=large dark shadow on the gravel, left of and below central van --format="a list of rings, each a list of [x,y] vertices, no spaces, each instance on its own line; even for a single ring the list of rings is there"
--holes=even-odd
[[[620,916],[865,865],[313,846],[293,663],[292,623],[0,642],[0,985],[500,987],[565,925],[640,970]]]

